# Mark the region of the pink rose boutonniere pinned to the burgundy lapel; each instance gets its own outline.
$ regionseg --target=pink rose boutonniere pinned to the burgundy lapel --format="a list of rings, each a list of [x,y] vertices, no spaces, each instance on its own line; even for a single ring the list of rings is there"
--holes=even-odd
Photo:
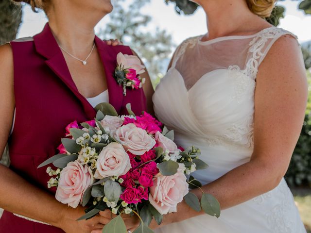
[[[123,87],[123,95],[126,96],[126,88],[138,89],[145,83],[145,78],[139,75],[145,72],[137,56],[127,55],[121,52],[117,55],[117,67],[114,78]]]

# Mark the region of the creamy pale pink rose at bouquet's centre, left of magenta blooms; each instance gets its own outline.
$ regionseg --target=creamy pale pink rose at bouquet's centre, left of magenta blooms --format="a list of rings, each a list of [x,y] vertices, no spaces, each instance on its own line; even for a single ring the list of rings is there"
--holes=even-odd
[[[121,144],[112,142],[98,155],[94,177],[121,176],[131,169],[130,157]]]

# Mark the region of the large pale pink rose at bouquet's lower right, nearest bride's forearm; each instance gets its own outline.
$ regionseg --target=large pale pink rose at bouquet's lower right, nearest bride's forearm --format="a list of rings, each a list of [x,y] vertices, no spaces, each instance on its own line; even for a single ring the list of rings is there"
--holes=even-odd
[[[163,176],[161,173],[155,175],[148,200],[161,215],[176,212],[177,204],[188,194],[184,171],[185,165],[179,164],[177,173],[172,176]]]

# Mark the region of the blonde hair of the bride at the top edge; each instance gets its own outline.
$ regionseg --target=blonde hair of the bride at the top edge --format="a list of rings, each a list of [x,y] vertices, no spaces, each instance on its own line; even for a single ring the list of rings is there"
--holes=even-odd
[[[259,17],[270,17],[276,0],[246,0],[248,8]]]

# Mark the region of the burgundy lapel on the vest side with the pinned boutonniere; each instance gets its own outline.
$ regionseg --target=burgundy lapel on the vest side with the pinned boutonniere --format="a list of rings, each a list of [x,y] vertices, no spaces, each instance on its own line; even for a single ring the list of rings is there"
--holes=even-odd
[[[113,74],[117,67],[117,53],[112,46],[108,46],[104,41],[95,36],[96,48],[101,56],[109,94],[109,103],[115,107],[117,112],[121,110],[123,101],[123,90],[114,79]]]

